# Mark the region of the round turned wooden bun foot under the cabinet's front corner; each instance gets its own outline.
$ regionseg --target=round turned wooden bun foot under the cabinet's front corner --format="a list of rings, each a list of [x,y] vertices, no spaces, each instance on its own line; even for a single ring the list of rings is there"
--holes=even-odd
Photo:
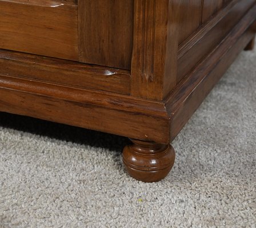
[[[173,168],[175,151],[171,145],[134,140],[123,149],[123,163],[131,177],[143,182],[160,181]]]

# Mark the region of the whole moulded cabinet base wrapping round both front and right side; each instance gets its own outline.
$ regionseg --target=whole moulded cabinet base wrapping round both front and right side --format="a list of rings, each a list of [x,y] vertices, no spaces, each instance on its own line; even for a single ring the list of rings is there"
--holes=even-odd
[[[0,76],[0,111],[168,144],[253,38],[255,31],[249,27],[255,25],[255,10],[254,6],[165,102],[5,74]]]

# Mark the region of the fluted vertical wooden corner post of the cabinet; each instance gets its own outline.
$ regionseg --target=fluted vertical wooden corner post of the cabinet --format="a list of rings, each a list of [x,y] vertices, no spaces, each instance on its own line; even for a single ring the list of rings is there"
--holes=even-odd
[[[162,100],[176,85],[177,17],[173,1],[135,0],[131,95]]]

